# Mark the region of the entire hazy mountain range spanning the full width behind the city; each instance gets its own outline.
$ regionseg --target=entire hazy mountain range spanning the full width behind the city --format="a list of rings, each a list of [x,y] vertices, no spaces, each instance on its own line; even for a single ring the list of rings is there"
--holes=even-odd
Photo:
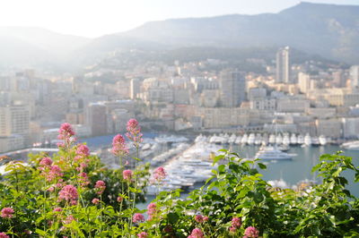
[[[200,47],[197,52],[202,52],[208,47],[212,55],[223,55],[237,48],[267,57],[268,51],[262,49],[283,46],[359,64],[359,6],[301,3],[280,13],[150,21],[134,30],[92,39],[39,28],[0,27],[0,66],[49,64],[76,69],[131,49],[148,51],[151,57],[162,57],[167,51],[186,58],[191,54],[181,54],[181,49],[190,53],[190,49]]]

